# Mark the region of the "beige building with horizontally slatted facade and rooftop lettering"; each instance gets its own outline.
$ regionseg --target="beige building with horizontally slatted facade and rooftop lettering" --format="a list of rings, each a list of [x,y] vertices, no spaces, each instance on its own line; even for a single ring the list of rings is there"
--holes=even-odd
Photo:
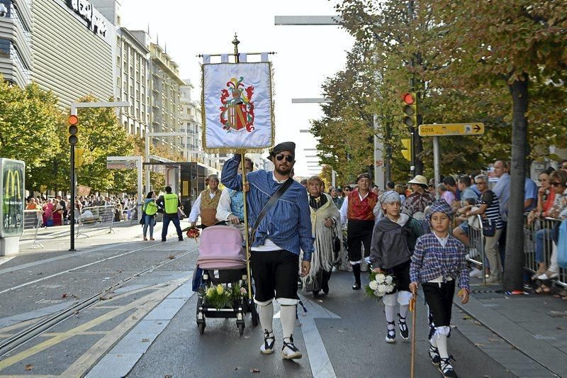
[[[32,80],[60,106],[114,96],[116,28],[86,0],[33,0]]]

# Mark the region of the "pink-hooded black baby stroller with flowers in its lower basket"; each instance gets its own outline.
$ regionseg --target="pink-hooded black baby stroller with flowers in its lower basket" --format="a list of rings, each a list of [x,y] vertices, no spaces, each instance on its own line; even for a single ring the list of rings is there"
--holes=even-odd
[[[252,325],[257,326],[256,305],[247,292],[250,277],[240,231],[229,226],[207,227],[201,232],[198,250],[197,267],[202,269],[197,291],[199,333],[205,332],[206,318],[236,318],[238,332],[242,335],[248,312],[252,314]],[[218,293],[218,285],[224,296]]]

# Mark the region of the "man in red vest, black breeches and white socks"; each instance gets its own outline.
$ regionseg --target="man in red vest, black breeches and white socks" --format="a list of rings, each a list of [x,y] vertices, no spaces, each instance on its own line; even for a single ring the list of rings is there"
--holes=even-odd
[[[348,221],[347,245],[349,260],[354,274],[353,290],[358,290],[361,287],[361,246],[364,245],[364,256],[369,256],[374,219],[376,218],[376,211],[379,210],[379,206],[376,206],[378,204],[378,196],[370,191],[371,180],[369,174],[359,174],[357,184],[358,190],[353,190],[345,196],[341,206],[341,222],[344,224]]]

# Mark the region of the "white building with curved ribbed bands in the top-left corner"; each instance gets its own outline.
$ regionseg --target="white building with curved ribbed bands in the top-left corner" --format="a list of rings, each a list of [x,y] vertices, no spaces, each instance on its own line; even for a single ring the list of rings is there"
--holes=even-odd
[[[30,0],[0,0],[0,75],[18,87],[31,82],[32,15]]]

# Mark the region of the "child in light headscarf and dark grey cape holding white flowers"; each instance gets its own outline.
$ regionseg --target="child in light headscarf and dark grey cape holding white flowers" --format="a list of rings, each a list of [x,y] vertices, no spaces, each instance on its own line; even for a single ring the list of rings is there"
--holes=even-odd
[[[388,332],[386,343],[395,343],[395,306],[398,302],[398,328],[403,340],[408,340],[410,332],[405,323],[410,304],[410,257],[415,240],[420,235],[420,224],[408,214],[400,213],[402,207],[400,194],[386,191],[380,198],[384,213],[376,223],[372,234],[370,262],[376,273],[393,274],[395,289],[383,296]],[[417,223],[417,224],[416,224]]]

